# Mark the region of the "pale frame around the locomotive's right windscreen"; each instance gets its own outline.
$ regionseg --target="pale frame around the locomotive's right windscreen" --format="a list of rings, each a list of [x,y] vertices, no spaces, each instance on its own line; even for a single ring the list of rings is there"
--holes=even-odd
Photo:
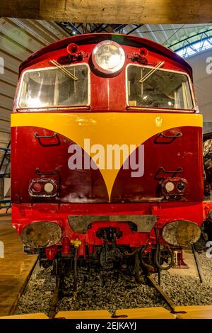
[[[194,96],[194,89],[192,85],[192,79],[189,77],[189,74],[186,72],[181,72],[177,70],[171,70],[171,69],[165,69],[165,68],[160,68],[158,71],[165,71],[165,72],[170,72],[170,73],[177,73],[177,74],[183,74],[187,77],[188,79],[188,86],[189,86],[189,91],[191,94],[191,100],[192,100],[192,108],[186,109],[186,108],[162,108],[162,107],[149,107],[149,106],[131,106],[129,104],[129,94],[128,94],[128,67],[129,66],[134,66],[134,67],[139,67],[139,68],[147,68],[147,69],[153,69],[153,66],[148,66],[148,65],[143,65],[143,64],[127,64],[126,69],[125,69],[125,78],[126,78],[126,108],[127,109],[134,109],[134,110],[141,110],[144,109],[145,111],[166,111],[166,112],[184,112],[184,113],[194,113],[197,111],[197,106],[196,106],[196,98]]]

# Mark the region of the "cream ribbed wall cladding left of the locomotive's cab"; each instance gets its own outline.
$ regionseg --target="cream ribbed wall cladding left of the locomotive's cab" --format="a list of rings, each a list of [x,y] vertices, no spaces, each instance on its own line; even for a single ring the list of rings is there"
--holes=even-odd
[[[10,140],[10,113],[20,63],[67,35],[56,23],[0,18],[0,147],[6,147]]]

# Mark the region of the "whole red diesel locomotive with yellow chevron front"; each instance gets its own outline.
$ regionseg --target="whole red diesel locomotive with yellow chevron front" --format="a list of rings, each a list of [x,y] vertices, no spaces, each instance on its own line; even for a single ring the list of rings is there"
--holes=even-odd
[[[43,266],[130,259],[139,280],[199,239],[202,116],[191,67],[162,45],[99,33],[35,52],[11,135],[12,223]]]

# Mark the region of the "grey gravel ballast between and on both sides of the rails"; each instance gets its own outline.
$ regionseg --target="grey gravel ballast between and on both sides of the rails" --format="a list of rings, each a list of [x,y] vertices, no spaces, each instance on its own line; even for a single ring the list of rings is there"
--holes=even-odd
[[[192,276],[171,275],[168,271],[162,271],[161,287],[175,305],[212,305],[212,259],[206,257],[205,247],[196,248],[206,284]],[[157,278],[156,275],[154,277]],[[16,313],[47,314],[54,286],[55,278],[51,269],[39,269],[20,297]],[[67,273],[57,310],[108,310],[113,314],[117,309],[155,306],[167,307],[167,304],[155,288],[147,283],[136,283],[133,272],[102,271],[94,268],[88,271],[81,268],[78,269],[77,298],[73,299],[73,276]]]

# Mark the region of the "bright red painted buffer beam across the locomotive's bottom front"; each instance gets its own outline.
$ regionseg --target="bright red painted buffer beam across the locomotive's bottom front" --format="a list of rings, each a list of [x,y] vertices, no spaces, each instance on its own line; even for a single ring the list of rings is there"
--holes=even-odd
[[[86,235],[76,234],[71,230],[68,215],[158,215],[157,226],[162,228],[167,222],[173,220],[191,220],[201,225],[203,220],[202,203],[124,203],[124,204],[13,204],[13,226],[20,234],[30,222],[47,220],[57,222],[62,229],[62,238],[79,238],[83,244],[92,246],[101,245],[102,239],[95,236],[99,227],[105,227],[107,222],[93,222]],[[117,239],[117,244],[127,244],[130,247],[139,247],[141,244],[154,244],[155,233],[131,232],[129,225],[124,222],[110,222],[112,227],[119,227],[123,237]],[[163,239],[161,239],[163,241]]]

